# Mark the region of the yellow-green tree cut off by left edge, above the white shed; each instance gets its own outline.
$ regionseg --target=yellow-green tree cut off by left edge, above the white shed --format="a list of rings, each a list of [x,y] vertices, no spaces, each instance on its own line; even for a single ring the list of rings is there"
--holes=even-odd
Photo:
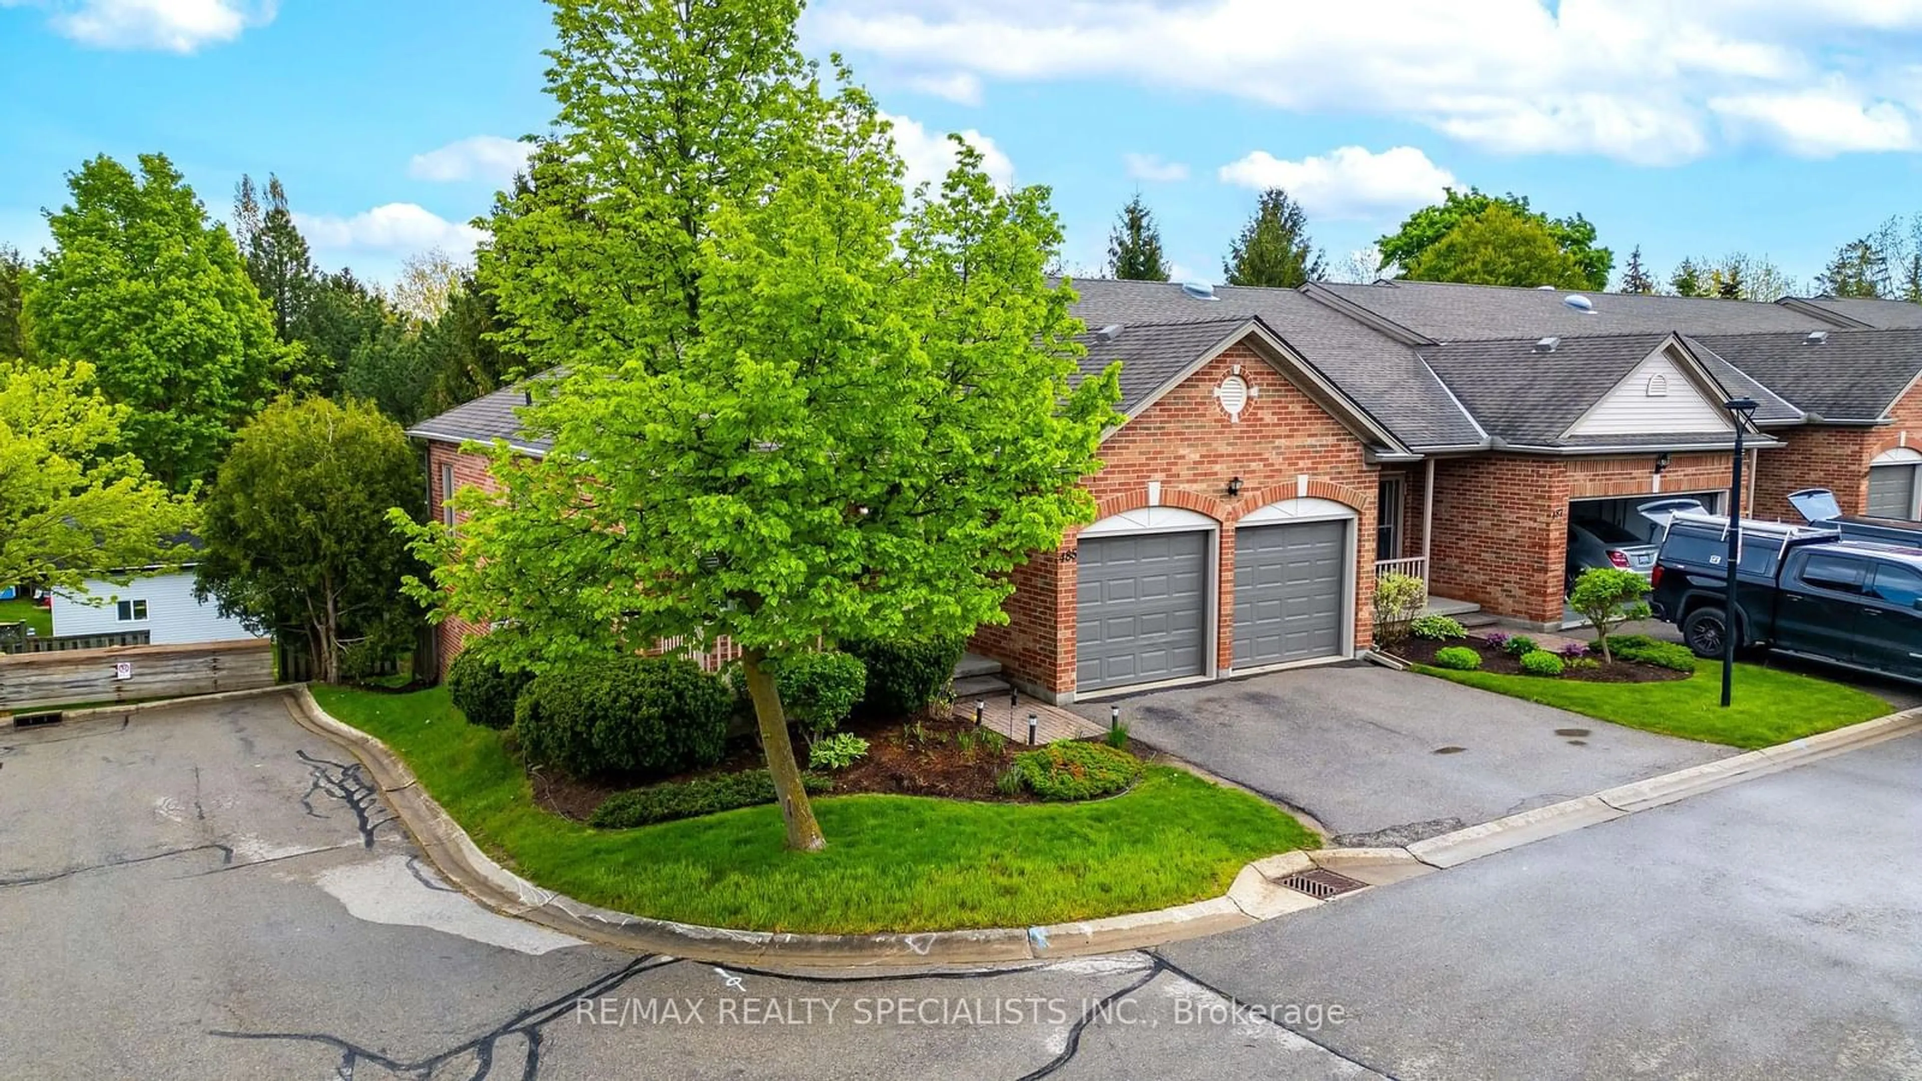
[[[186,552],[192,500],[121,450],[129,412],[86,364],[0,362],[0,581],[79,592]]]

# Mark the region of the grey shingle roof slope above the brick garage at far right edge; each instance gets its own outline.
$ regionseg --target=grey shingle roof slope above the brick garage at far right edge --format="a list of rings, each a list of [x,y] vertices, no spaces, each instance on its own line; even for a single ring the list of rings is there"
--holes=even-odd
[[[1922,371],[1922,329],[1809,335],[1705,335],[1701,344],[1801,410],[1828,421],[1872,421]]]

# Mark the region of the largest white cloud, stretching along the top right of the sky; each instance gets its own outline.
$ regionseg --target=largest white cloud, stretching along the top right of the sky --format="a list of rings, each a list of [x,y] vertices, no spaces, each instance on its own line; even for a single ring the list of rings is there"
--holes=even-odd
[[[809,13],[821,46],[899,69],[1126,81],[1638,163],[1730,137],[1903,148],[1922,108],[1918,33],[1922,0],[821,0]],[[1859,108],[1824,94],[1843,75]],[[1761,123],[1770,108],[1791,115]],[[1811,138],[1822,117],[1839,131]]]

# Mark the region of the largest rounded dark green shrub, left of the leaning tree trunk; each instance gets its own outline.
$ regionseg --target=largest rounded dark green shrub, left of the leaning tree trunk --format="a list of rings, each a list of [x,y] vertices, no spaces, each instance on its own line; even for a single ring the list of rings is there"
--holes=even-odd
[[[659,777],[721,762],[734,702],[680,658],[609,658],[536,677],[513,733],[534,766],[575,777]]]

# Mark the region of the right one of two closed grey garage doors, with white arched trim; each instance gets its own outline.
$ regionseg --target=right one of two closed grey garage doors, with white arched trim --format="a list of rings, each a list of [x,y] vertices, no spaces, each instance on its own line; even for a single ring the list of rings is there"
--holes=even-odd
[[[1236,673],[1355,656],[1359,521],[1355,508],[1313,496],[1236,521]]]

